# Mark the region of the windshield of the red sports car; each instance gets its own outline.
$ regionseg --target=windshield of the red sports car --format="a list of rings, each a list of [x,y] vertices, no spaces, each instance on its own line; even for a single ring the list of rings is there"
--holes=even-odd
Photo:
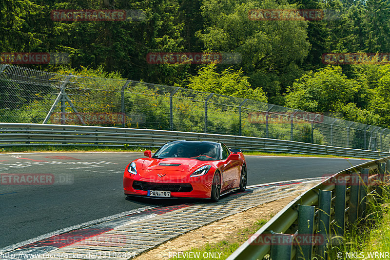
[[[212,142],[175,141],[164,144],[153,158],[219,160],[219,145]]]

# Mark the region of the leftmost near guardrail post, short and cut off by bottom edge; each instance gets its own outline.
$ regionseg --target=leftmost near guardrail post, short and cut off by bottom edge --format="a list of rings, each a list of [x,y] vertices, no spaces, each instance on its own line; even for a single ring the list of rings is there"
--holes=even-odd
[[[292,239],[290,234],[273,233],[271,235],[271,259],[291,260]]]

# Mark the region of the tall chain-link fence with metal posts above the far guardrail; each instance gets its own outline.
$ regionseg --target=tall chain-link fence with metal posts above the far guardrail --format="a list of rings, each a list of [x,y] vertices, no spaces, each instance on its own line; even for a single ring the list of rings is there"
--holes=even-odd
[[[389,151],[390,130],[254,100],[134,80],[0,65],[0,122],[145,128]]]

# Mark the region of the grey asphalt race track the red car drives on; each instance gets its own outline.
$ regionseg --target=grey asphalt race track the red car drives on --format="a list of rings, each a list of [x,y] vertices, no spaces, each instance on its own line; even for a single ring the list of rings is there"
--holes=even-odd
[[[144,156],[140,153],[0,155],[0,174],[27,174],[25,178],[34,174],[39,178],[39,185],[15,185],[8,175],[1,176],[0,248],[90,220],[166,203],[125,200],[124,167],[141,157]],[[322,177],[365,162],[256,156],[246,159],[248,185]],[[23,181],[20,179],[19,183]]]

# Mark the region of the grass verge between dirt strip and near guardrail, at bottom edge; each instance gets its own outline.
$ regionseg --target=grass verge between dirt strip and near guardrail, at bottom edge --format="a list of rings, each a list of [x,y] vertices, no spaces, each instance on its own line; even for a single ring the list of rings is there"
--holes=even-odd
[[[272,216],[271,216],[272,217]],[[227,259],[238,247],[240,247],[248,237],[252,236],[268,220],[256,220],[252,226],[240,229],[237,234],[232,234],[230,238],[217,243],[206,243],[200,248],[191,248],[190,250],[180,252],[180,256],[170,258],[172,260],[210,260],[210,259]]]

